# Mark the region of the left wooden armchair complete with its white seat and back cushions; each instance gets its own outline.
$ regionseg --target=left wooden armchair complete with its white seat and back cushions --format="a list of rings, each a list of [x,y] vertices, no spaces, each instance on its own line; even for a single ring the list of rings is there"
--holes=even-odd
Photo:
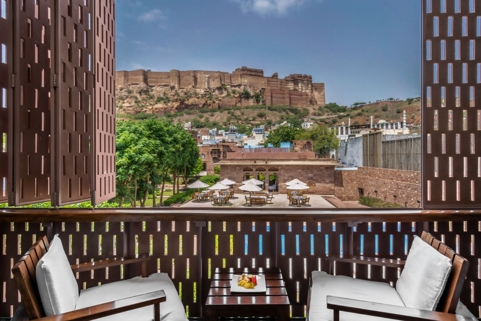
[[[80,321],[113,315],[115,320],[132,320],[135,316],[141,316],[159,321],[161,313],[169,320],[180,318],[187,321],[182,302],[177,299],[171,301],[171,297],[176,298],[178,295],[168,276],[165,273],[154,273],[147,277],[146,262],[149,259],[150,254],[144,253],[69,265],[58,236],[54,236],[51,244],[46,236],[42,236],[12,268],[13,278],[22,297],[12,321]],[[141,277],[147,280],[138,282],[134,280],[139,278],[136,277],[106,283],[82,290],[78,294],[76,272],[138,262],[141,263]],[[151,290],[158,287],[164,289],[145,291],[146,286]],[[166,301],[166,293],[169,295],[169,304],[162,305],[161,308],[161,303]],[[149,306],[153,306],[153,309]],[[175,310],[174,319],[172,310]],[[46,317],[47,314],[49,316]]]

